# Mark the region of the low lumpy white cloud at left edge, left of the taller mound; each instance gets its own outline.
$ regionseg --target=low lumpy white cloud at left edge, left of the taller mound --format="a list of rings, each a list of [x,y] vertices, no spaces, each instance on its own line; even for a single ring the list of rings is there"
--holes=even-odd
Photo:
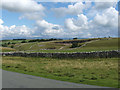
[[[0,19],[0,21],[2,21]],[[3,39],[13,39],[13,38],[30,38],[32,34],[32,29],[28,28],[25,25],[16,26],[12,25],[10,27],[0,24],[0,33],[2,34]]]

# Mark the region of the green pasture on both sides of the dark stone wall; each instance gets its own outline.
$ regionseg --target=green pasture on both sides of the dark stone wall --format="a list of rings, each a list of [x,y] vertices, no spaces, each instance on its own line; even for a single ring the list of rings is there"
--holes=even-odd
[[[86,42],[83,42],[85,41]],[[33,40],[34,41],[34,40]],[[78,47],[71,48],[72,43]],[[5,40],[2,52],[91,52],[118,50],[118,38],[53,40]],[[48,58],[3,56],[2,69],[61,81],[118,88],[118,58]],[[119,87],[120,88],[120,87]]]

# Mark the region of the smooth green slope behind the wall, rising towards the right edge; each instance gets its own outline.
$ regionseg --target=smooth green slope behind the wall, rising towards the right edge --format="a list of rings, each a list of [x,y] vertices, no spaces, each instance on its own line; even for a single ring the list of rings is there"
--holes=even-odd
[[[61,50],[36,50],[32,52],[90,52],[90,51],[107,51],[107,50],[118,50],[118,39],[99,40],[86,44],[81,48],[67,48]]]

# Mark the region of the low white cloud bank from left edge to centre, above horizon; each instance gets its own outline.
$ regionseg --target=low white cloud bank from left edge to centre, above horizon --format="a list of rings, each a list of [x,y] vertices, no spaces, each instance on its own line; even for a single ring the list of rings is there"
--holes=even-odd
[[[3,39],[14,38],[34,38],[34,37],[61,37],[64,31],[60,25],[48,23],[45,20],[36,21],[34,28],[29,28],[26,25],[10,27],[2,25],[3,21],[0,19],[0,34]]]

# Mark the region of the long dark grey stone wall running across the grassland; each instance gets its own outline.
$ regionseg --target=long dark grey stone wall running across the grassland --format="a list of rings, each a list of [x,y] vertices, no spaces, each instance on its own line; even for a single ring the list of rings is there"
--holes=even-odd
[[[3,52],[2,56],[22,56],[22,57],[52,57],[52,58],[112,58],[119,57],[120,51],[99,51],[99,52],[79,52],[79,53],[24,53],[24,52]]]

